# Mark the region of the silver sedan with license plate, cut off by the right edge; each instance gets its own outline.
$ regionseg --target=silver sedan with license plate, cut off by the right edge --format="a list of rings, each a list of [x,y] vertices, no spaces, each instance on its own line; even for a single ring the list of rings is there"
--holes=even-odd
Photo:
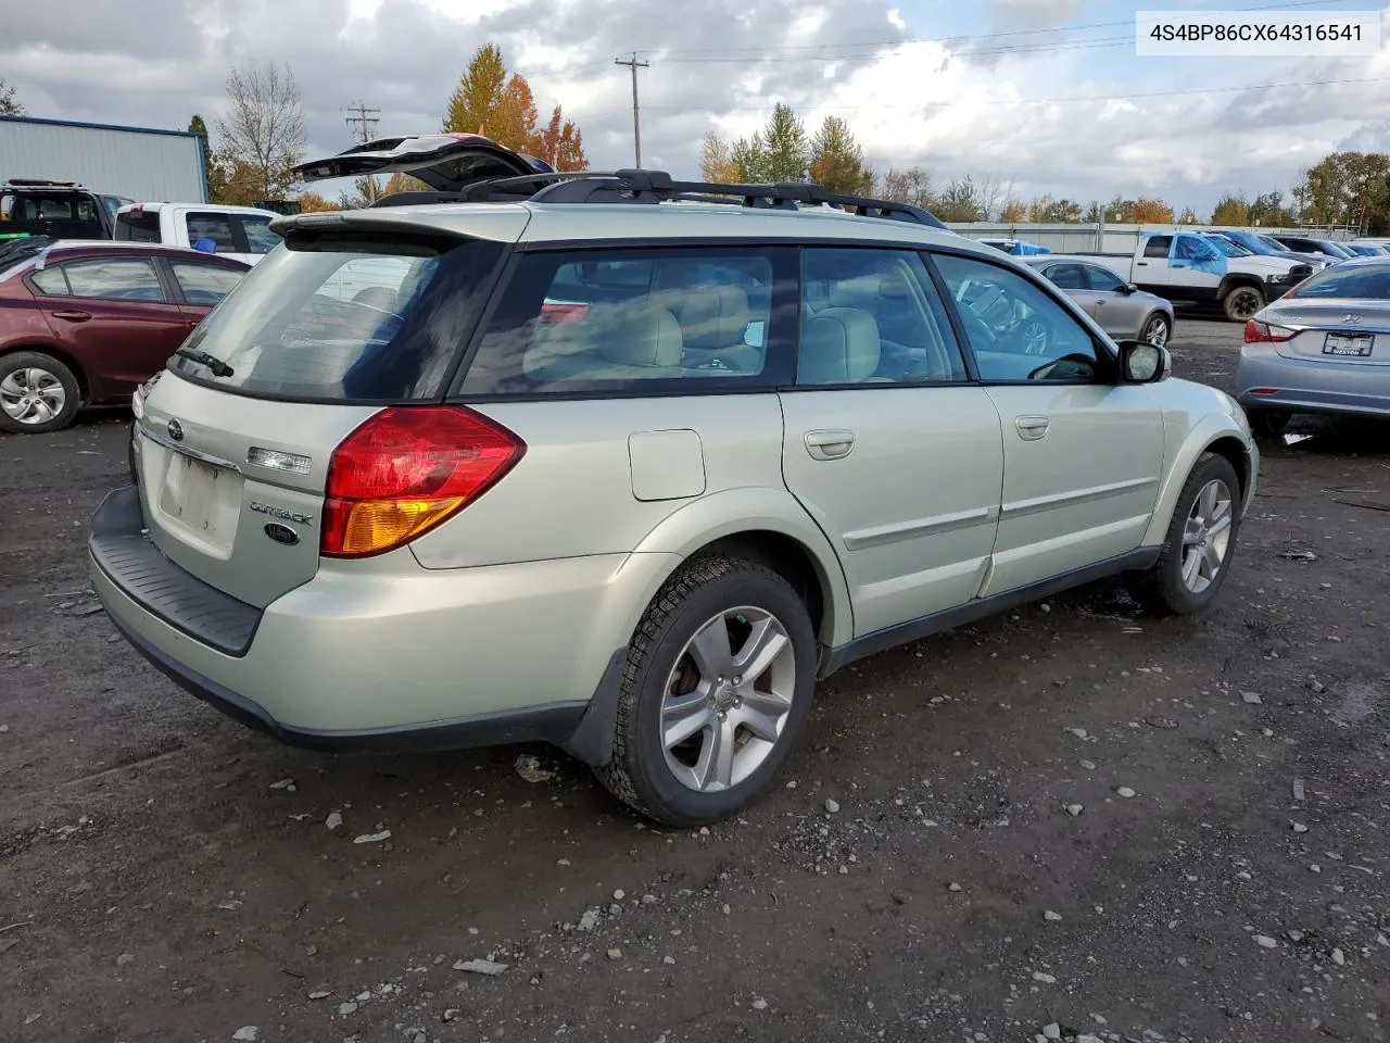
[[[1236,399],[1265,434],[1293,413],[1390,417],[1390,257],[1339,261],[1250,320]]]

